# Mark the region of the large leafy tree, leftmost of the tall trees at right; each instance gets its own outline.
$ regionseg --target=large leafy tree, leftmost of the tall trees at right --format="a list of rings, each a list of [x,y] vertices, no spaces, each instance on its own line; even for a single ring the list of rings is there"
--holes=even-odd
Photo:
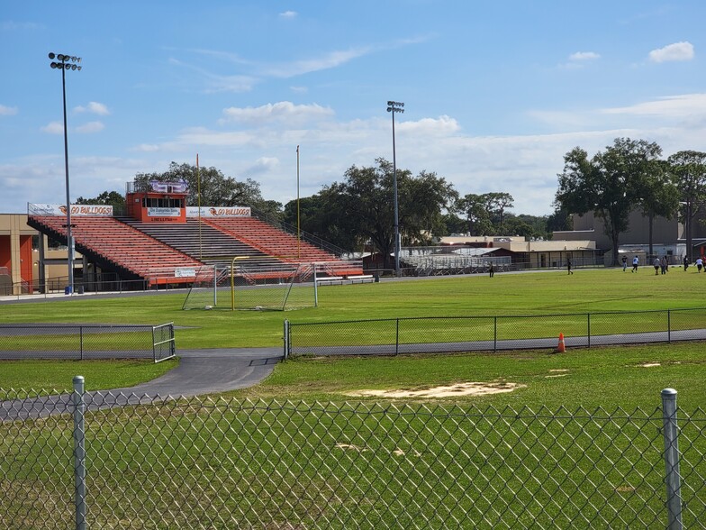
[[[579,147],[564,157],[555,204],[575,214],[592,211],[603,219],[613,265],[618,265],[620,233],[628,229],[630,211],[638,205],[640,189],[661,153],[655,142],[616,138],[592,160]]]

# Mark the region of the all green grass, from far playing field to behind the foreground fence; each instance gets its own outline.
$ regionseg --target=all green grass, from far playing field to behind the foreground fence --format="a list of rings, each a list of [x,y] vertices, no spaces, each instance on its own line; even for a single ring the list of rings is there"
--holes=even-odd
[[[177,351],[279,346],[285,318],[697,307],[701,282],[706,274],[677,269],[658,277],[651,270],[533,272],[331,286],[321,288],[318,308],[287,313],[184,312],[183,296],[158,293],[0,306],[0,319],[174,321]],[[91,499],[89,512],[104,528],[126,520],[155,528],[204,521],[213,528],[313,528],[343,516],[345,522],[330,527],[372,529],[420,527],[420,517],[429,515],[424,527],[665,527],[660,418],[652,415],[667,387],[678,389],[683,409],[706,407],[702,350],[701,343],[676,343],[561,354],[303,357],[280,363],[256,387],[214,401],[95,411],[86,443],[90,490],[101,495]],[[76,373],[86,376],[88,389],[128,386],[157,377],[173,366],[168,362],[2,361],[0,388],[67,388]],[[365,389],[429,390],[469,381],[519,386],[481,397],[359,396]],[[684,432],[698,425],[684,422]],[[72,479],[62,452],[70,418],[0,427],[0,476],[8,479],[0,491],[10,514],[0,524],[21,516],[31,525],[50,504],[48,524],[68,526],[71,507],[61,499]],[[693,478],[706,476],[706,438],[687,436],[682,471],[698,516],[706,493]],[[694,517],[685,517],[688,525],[696,526]]]

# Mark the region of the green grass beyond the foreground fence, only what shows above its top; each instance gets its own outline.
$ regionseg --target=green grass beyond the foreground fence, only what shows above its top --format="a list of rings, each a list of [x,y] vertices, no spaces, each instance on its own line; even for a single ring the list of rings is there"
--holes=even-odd
[[[655,276],[620,269],[577,270],[384,281],[320,288],[319,307],[290,312],[182,311],[183,294],[92,297],[0,306],[5,323],[105,323],[177,326],[178,348],[280,346],[283,321],[294,323],[367,318],[450,315],[543,315],[654,310],[706,306],[701,285],[706,274],[673,268]],[[230,300],[229,300],[230,303]],[[706,323],[704,323],[706,325]],[[706,376],[700,343],[577,349],[564,355],[505,352],[489,355],[398,356],[394,359],[298,359],[277,366],[261,385],[235,395],[350,399],[359,389],[429,388],[462,381],[511,381],[526,385],[510,394],[457,397],[474,403],[647,406],[661,388],[680,391],[683,406],[705,407],[697,384]],[[644,363],[661,363],[643,368]],[[157,367],[138,361],[5,361],[0,388],[68,388],[73,372],[88,388],[116,388],[157,377],[173,363]],[[549,371],[565,370],[565,371]],[[60,374],[60,375],[59,375]],[[94,375],[94,374],[100,374]],[[629,392],[620,391],[630,388]]]

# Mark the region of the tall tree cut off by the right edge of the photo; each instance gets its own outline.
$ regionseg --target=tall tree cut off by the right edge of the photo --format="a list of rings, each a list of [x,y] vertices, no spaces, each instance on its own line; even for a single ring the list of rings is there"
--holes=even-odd
[[[667,159],[672,182],[679,190],[682,202],[680,221],[686,233],[686,255],[692,258],[693,220],[706,202],[706,153],[679,151]]]

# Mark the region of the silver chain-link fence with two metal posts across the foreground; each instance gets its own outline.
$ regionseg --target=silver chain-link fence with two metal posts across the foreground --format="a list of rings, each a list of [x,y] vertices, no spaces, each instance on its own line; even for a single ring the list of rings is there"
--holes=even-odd
[[[2,528],[706,527],[706,415],[0,391]],[[35,395],[35,394],[32,394]],[[51,403],[63,403],[52,408]],[[140,403],[141,402],[141,403]]]

